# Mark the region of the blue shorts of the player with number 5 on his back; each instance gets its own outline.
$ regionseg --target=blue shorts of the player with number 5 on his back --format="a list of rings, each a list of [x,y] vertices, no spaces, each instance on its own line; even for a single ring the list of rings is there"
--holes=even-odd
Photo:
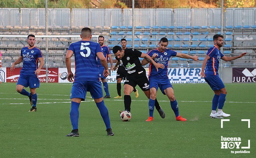
[[[99,81],[76,81],[73,83],[70,99],[81,98],[85,100],[86,93],[90,92],[93,99],[103,97],[101,82]]]

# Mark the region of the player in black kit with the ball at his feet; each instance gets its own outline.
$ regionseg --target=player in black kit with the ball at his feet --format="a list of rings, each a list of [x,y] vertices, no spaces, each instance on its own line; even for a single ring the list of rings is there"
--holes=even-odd
[[[150,98],[149,92],[149,82],[146,76],[146,70],[142,67],[140,63],[141,58],[145,58],[148,62],[155,65],[156,69],[158,68],[163,69],[164,65],[160,63],[156,63],[150,56],[145,53],[142,53],[134,48],[122,50],[120,46],[113,47],[113,53],[116,56],[117,64],[122,63],[122,66],[127,71],[127,77],[124,82],[124,104],[125,110],[131,111],[131,92],[133,91],[134,87],[138,85],[141,90],[145,93],[145,95]],[[114,70],[116,69],[116,65]],[[155,101],[155,107],[162,118],[165,118],[165,112],[160,107],[158,101]],[[119,113],[122,111],[120,110]]]

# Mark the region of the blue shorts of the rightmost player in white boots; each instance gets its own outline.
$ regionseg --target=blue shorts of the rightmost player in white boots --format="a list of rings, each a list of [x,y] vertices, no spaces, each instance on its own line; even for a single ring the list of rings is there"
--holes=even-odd
[[[219,90],[225,87],[219,75],[205,75],[205,81],[209,84],[212,90]]]

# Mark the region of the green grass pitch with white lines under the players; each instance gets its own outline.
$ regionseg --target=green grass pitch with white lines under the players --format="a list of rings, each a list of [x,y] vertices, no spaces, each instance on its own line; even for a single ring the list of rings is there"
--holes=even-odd
[[[207,84],[173,84],[180,115],[187,122],[175,120],[168,98],[159,90],[157,99],[166,117],[162,119],[155,110],[154,121],[145,122],[148,99],[139,87],[139,98],[131,93],[131,121],[121,122],[118,110],[124,109],[123,99],[113,99],[116,84],[109,84],[112,98],[104,102],[115,135],[106,135],[100,112],[88,93],[87,102],[79,108],[80,137],[70,138],[65,135],[72,130],[72,84],[41,83],[37,112],[29,113],[29,100],[16,92],[16,84],[2,83],[0,157],[256,157],[256,84],[225,85],[228,94],[223,111],[231,116],[223,128],[221,119],[209,117],[214,94]],[[241,119],[250,119],[251,127]],[[221,149],[221,136],[240,137],[240,149]],[[250,149],[241,149],[247,147],[247,140]],[[240,150],[250,153],[231,153]]]

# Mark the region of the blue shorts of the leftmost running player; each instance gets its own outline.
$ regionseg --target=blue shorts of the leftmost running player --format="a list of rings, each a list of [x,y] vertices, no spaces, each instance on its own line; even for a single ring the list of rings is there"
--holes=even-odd
[[[40,86],[39,78],[37,78],[37,75],[34,71],[30,70],[20,72],[20,77],[18,79],[17,85],[18,84],[24,87],[29,86],[29,88],[39,88]]]

